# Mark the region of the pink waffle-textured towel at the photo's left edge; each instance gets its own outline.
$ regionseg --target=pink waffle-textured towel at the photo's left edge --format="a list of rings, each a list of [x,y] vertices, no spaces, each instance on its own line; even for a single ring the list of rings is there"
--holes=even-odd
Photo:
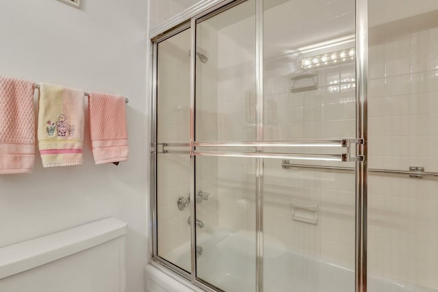
[[[0,174],[31,173],[34,160],[34,83],[0,76]]]

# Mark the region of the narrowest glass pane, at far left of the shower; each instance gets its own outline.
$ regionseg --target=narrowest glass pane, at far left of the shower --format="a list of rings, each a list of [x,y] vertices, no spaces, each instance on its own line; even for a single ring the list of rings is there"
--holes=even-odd
[[[190,29],[157,44],[157,144],[190,143]],[[156,254],[190,272],[190,153],[157,153]],[[179,202],[179,204],[177,204]]]

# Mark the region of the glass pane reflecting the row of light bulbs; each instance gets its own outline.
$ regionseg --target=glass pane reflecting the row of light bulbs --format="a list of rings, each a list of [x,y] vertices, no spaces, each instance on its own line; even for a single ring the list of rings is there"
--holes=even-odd
[[[355,137],[355,1],[274,2],[263,1],[263,140]],[[355,162],[263,163],[263,291],[355,291]]]

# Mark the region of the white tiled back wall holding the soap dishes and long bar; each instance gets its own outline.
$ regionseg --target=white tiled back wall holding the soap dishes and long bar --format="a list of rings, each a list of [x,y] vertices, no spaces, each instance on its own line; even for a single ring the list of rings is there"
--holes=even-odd
[[[438,64],[430,64],[437,51],[430,44],[435,40],[426,38],[436,31],[412,32],[370,47],[370,168],[408,170],[410,165],[421,165],[428,171],[438,169]],[[420,38],[424,46],[417,53],[413,47]],[[339,71],[353,74],[354,68],[320,70],[320,88],[298,94],[285,90],[289,77],[266,81],[267,103],[279,104],[266,111],[267,138],[353,136],[354,91],[348,95],[330,90],[333,79],[342,79]],[[287,118],[282,107],[292,117]],[[285,171],[278,161],[265,163],[266,234],[293,250],[352,268],[354,176]],[[438,289],[437,181],[371,175],[369,187],[370,275]],[[318,226],[292,221],[291,201],[299,199],[320,205]]]

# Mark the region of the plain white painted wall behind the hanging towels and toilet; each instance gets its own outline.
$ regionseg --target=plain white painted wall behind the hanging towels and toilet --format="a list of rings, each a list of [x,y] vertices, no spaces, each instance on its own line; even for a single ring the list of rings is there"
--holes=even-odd
[[[147,1],[0,2],[0,74],[129,97],[130,158],[94,165],[86,129],[83,165],[0,176],[0,246],[104,217],[128,223],[127,291],[143,291],[146,238]],[[86,123],[87,125],[88,123]]]

